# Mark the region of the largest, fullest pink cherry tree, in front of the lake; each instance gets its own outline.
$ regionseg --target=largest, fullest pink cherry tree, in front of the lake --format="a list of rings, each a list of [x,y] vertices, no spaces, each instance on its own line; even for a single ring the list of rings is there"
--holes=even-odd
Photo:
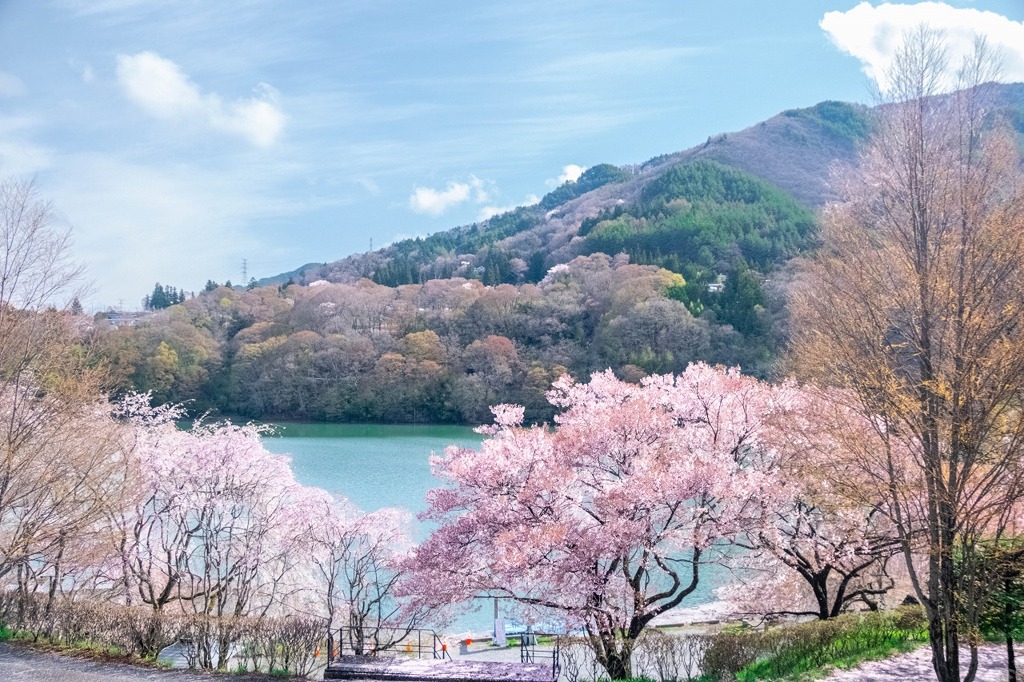
[[[433,463],[450,485],[428,496],[439,527],[406,589],[437,605],[493,595],[551,609],[612,679],[630,677],[643,630],[761,523],[773,481],[761,436],[791,391],[693,365],[641,385],[563,377],[554,430],[495,408],[479,451]]]

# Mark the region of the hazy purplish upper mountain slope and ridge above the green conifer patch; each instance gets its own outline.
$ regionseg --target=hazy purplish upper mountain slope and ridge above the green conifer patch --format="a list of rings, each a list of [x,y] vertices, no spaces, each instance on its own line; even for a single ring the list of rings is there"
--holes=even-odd
[[[1024,132],[1024,84],[986,87],[995,109],[1018,132]],[[591,252],[592,245],[577,239],[585,221],[618,207],[625,207],[627,213],[642,213],[648,185],[679,166],[699,161],[749,173],[814,210],[835,198],[828,184],[830,173],[834,168],[856,163],[860,143],[870,135],[870,121],[871,109],[839,101],[788,110],[745,130],[713,135],[699,146],[638,166],[595,166],[534,206],[355,254],[305,269],[293,279],[308,284],[369,278],[390,286],[450,276],[480,279],[487,284],[537,282],[552,265]],[[502,272],[502,266],[514,259],[525,262],[526,269],[515,276]],[[718,263],[719,269],[726,264]],[[522,263],[515,265],[522,268]],[[766,265],[770,264],[760,263],[762,269]]]

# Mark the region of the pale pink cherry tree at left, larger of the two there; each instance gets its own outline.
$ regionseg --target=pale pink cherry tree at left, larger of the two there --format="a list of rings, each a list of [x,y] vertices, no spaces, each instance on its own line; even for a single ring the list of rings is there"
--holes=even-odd
[[[181,430],[179,411],[146,401],[121,406],[135,428],[135,495],[114,519],[120,580],[129,603],[175,604],[205,622],[198,658],[223,668],[226,621],[265,614],[281,599],[296,527],[289,512],[305,494],[288,459],[263,447],[264,429],[199,422]]]

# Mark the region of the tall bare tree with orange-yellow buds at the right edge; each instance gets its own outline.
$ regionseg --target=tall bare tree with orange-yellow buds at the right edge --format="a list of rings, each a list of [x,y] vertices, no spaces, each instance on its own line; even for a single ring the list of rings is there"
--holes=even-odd
[[[852,493],[884,502],[942,682],[961,679],[962,637],[974,679],[986,595],[969,571],[1024,492],[1024,202],[1014,144],[985,105],[996,61],[977,43],[943,95],[942,36],[907,34],[795,296],[795,368],[849,389],[879,436],[856,464],[873,467],[857,479],[871,484]]]

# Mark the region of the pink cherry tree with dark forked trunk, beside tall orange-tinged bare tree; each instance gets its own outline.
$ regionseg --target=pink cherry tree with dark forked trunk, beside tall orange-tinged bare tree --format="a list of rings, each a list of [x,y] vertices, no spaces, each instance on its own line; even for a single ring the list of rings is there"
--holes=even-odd
[[[738,543],[748,551],[734,557],[735,583],[719,591],[737,607],[827,620],[858,603],[873,610],[895,586],[889,563],[900,546],[884,496],[844,494],[873,489],[851,460],[882,443],[869,421],[837,408],[831,393],[794,391],[766,436],[774,505]]]

